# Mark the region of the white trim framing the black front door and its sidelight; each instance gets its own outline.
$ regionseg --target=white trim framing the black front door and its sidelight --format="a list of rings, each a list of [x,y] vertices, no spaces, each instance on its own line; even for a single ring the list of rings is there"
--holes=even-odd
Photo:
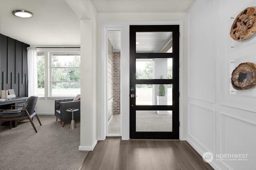
[[[183,21],[104,21],[101,23],[101,113],[100,113],[100,137],[98,140],[106,138],[106,33],[108,30],[121,31],[121,81],[120,81],[120,105],[121,105],[121,135],[122,140],[130,138],[130,115],[129,115],[129,80],[130,80],[130,45],[129,45],[129,25],[180,25],[180,140],[184,140],[184,122],[183,121],[183,59],[184,59],[184,40],[183,40]],[[186,126],[185,126],[186,127]]]

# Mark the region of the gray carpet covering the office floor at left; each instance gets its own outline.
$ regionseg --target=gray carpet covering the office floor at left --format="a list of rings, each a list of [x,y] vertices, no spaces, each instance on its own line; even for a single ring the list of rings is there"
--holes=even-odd
[[[78,170],[88,151],[79,151],[80,121],[76,129],[68,129],[70,121],[61,126],[54,115],[36,117],[35,133],[30,122],[22,121],[18,127],[0,127],[1,170]]]

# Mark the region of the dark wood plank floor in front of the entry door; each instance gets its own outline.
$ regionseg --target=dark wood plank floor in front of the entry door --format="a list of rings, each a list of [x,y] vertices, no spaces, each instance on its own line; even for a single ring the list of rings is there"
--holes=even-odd
[[[214,170],[186,141],[98,141],[79,170]]]

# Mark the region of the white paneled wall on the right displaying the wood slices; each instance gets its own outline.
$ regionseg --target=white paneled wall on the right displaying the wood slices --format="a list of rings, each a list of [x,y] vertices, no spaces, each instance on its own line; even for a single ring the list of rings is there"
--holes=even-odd
[[[214,156],[249,154],[248,161],[214,158],[210,164],[215,169],[255,169],[256,98],[248,96],[251,93],[246,90],[230,94],[234,91],[230,88],[233,67],[243,62],[256,63],[255,37],[237,43],[229,35],[230,17],[251,2],[196,0],[188,12],[187,140],[201,155],[206,151]],[[253,2],[250,6],[256,6]],[[231,60],[235,61],[233,65]]]

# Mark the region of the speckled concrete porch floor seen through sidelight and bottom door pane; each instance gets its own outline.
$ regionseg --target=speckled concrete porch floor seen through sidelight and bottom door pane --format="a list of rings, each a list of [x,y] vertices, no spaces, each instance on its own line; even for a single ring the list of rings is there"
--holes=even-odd
[[[120,134],[120,114],[113,115],[108,125],[108,135]],[[136,131],[172,131],[172,111],[166,115],[158,115],[154,111],[136,111]]]

